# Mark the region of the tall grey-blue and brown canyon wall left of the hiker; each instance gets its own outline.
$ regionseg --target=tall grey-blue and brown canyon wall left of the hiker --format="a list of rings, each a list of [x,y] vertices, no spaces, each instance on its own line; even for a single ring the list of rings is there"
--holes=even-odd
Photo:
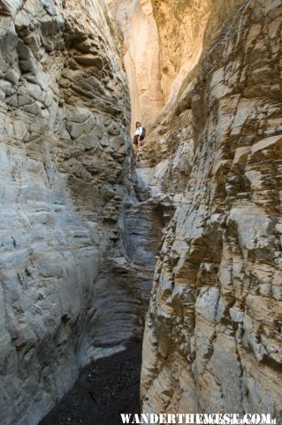
[[[120,267],[136,200],[117,46],[100,0],[0,1],[4,425],[37,424],[81,365],[141,334]]]

